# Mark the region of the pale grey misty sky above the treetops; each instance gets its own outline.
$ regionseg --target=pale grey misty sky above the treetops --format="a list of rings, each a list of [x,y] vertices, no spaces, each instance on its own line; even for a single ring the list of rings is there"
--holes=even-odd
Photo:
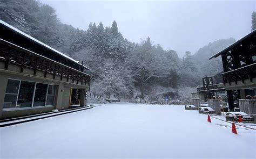
[[[55,8],[62,23],[87,30],[91,21],[106,27],[116,20],[124,38],[149,36],[180,57],[218,39],[243,37],[256,10],[256,1],[40,1]]]

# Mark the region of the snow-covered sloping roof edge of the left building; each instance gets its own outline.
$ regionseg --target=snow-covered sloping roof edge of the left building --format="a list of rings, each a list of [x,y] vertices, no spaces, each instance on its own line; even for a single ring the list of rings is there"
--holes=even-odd
[[[63,57],[65,57],[66,59],[69,59],[70,61],[73,61],[73,62],[76,62],[76,63],[80,64],[79,61],[76,61],[75,59],[72,59],[72,58],[69,57],[68,55],[65,55],[65,54],[59,52],[58,50],[56,50],[56,49],[54,49],[54,48],[52,48],[52,47],[50,47],[50,46],[44,44],[43,42],[41,42],[41,41],[39,41],[39,40],[37,40],[37,39],[31,37],[30,35],[28,35],[28,34],[26,34],[26,33],[24,33],[24,32],[22,32],[22,31],[18,30],[17,28],[11,26],[10,24],[5,23],[3,20],[0,20],[0,24],[3,24],[4,26],[10,28],[11,30],[13,30],[13,31],[15,31],[15,32],[17,32],[17,33],[23,35],[24,37],[29,38],[30,40],[35,41],[37,44],[42,45],[42,46],[44,46],[44,47],[46,47],[46,48],[52,50],[53,52],[59,54],[60,56],[63,56]],[[84,66],[84,65],[83,65],[83,67],[84,67],[85,69],[91,70],[90,68],[87,68],[87,67]]]

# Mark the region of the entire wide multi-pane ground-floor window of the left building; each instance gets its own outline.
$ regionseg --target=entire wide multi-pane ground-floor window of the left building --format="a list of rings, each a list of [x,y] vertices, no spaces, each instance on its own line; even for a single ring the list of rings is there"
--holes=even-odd
[[[4,109],[53,105],[55,85],[8,79]]]

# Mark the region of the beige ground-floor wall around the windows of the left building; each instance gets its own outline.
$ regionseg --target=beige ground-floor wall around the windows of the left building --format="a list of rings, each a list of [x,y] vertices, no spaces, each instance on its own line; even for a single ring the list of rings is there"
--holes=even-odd
[[[68,109],[70,89],[76,88],[87,90],[89,88],[88,85],[77,84],[76,81],[71,83],[71,81],[66,82],[66,79],[60,81],[58,76],[56,76],[56,79],[52,79],[51,75],[47,75],[47,78],[43,77],[43,75],[44,73],[40,71],[38,71],[36,75],[33,75],[33,70],[29,68],[24,68],[24,73],[19,73],[19,67],[14,65],[9,65],[8,70],[6,70],[3,69],[3,62],[0,62],[0,119],[50,112],[55,109]],[[53,106],[26,107],[11,110],[3,109],[5,91],[9,78],[55,85],[55,99]]]

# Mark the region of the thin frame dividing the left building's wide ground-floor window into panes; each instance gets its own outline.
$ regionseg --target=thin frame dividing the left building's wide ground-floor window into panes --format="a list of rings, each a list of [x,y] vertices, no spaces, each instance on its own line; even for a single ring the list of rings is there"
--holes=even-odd
[[[30,107],[18,107],[18,108],[17,108],[18,95],[19,95],[19,91],[20,91],[20,88],[21,88],[21,82],[22,82],[22,81],[25,81],[25,82],[33,82],[33,81],[27,81],[27,80],[21,80],[21,79],[8,78],[8,80],[9,80],[9,79],[10,79],[10,80],[19,81],[19,88],[18,88],[18,93],[6,93],[6,90],[5,90],[4,95],[17,95],[17,97],[16,97],[16,104],[15,104],[15,107],[9,107],[9,108],[4,108],[4,107],[3,107],[3,111],[23,110],[23,109],[36,109],[36,108],[41,108],[41,107],[52,107],[52,106],[54,106],[55,94],[56,94],[56,85],[54,85],[54,84],[49,84],[49,83],[42,83],[42,84],[47,84],[47,89],[46,89],[46,94],[45,94],[45,104],[42,105],[42,106],[33,106],[33,105],[34,105],[34,99],[35,99],[35,93],[36,93],[36,86],[37,86],[37,83],[41,83],[41,82],[34,82],[34,83],[35,83],[35,86],[34,86],[34,88],[33,88],[33,96],[32,96],[31,106],[30,106]],[[49,85],[54,86],[53,95],[48,95]],[[51,104],[51,105],[46,104],[48,96],[53,96],[53,104]]]

